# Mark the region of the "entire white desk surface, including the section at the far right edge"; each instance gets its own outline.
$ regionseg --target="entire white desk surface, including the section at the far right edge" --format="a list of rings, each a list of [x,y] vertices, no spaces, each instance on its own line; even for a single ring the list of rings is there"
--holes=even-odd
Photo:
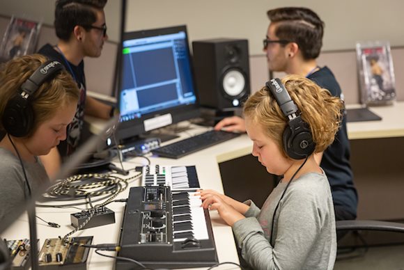
[[[348,123],[348,136],[350,139],[361,138],[385,138],[394,136],[404,136],[404,121],[401,116],[404,115],[404,102],[397,102],[394,106],[371,107],[371,111],[382,117],[381,121],[371,122],[351,122]],[[187,131],[181,134],[181,138],[193,136],[204,132],[203,127],[193,128],[192,131]],[[179,138],[179,139],[181,139]],[[171,143],[170,141],[169,143]],[[158,157],[150,157],[151,164],[162,165],[180,165],[191,166],[195,165],[199,176],[199,182],[204,189],[216,189],[223,192],[222,178],[219,171],[219,163],[235,159],[238,157],[251,154],[252,143],[246,134],[242,134],[230,141],[220,143],[205,150],[189,154],[181,159],[165,159]],[[124,168],[130,169],[134,166],[146,164],[145,159],[134,158],[124,162]],[[119,164],[117,164],[119,166]],[[139,186],[140,180],[131,182],[130,186]],[[120,193],[118,198],[127,198],[129,188]],[[124,204],[121,202],[113,202],[108,207],[114,210],[116,214],[116,223],[104,225],[97,228],[80,230],[73,236],[94,236],[93,244],[118,243],[119,227],[121,225]],[[72,230],[70,226],[70,214],[78,212],[78,209],[55,209],[55,208],[37,208],[37,215],[46,221],[56,222],[61,225],[61,228],[50,228],[49,226],[38,221],[38,238],[40,239],[40,247],[43,241],[47,238],[55,238],[64,236]],[[217,255],[219,262],[236,262],[238,263],[238,255],[235,249],[233,233],[231,228],[220,219],[217,212],[210,212],[212,228],[215,236],[215,244],[217,247]],[[20,218],[3,234],[7,239],[22,239],[29,238],[28,219],[26,214]],[[111,252],[105,252],[112,255]],[[112,269],[114,260],[102,257],[91,251],[89,269]],[[231,265],[224,265],[217,269],[237,269]]]

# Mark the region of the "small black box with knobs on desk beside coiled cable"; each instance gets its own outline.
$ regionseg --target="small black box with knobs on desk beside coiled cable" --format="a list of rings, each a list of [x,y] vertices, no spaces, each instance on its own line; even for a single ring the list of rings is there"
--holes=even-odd
[[[77,212],[74,214],[70,214],[70,221],[72,226],[78,228],[79,225],[84,223],[91,216],[91,210],[83,210],[81,212]],[[102,225],[107,225],[111,223],[115,223],[115,212],[107,207],[98,207],[94,209],[95,213],[93,217],[88,221],[86,225],[84,225],[81,230],[98,227]]]

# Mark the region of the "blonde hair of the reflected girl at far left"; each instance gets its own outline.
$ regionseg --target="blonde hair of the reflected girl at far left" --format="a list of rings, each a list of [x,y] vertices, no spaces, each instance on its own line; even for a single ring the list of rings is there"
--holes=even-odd
[[[22,84],[35,70],[45,63],[47,58],[40,54],[33,54],[15,58],[1,66],[0,70],[0,119],[3,119],[6,104],[20,92]],[[45,81],[33,93],[30,100],[33,113],[33,128],[26,137],[32,136],[38,126],[54,116],[56,111],[79,100],[79,88],[71,75],[63,70],[51,80]],[[5,131],[0,121],[0,130]]]

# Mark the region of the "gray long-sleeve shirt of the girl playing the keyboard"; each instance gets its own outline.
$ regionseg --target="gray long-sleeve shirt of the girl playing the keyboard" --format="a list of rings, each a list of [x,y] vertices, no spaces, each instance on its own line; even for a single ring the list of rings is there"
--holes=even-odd
[[[233,225],[242,257],[252,269],[333,269],[336,257],[334,205],[325,173],[279,183],[260,210],[251,200],[246,219]]]

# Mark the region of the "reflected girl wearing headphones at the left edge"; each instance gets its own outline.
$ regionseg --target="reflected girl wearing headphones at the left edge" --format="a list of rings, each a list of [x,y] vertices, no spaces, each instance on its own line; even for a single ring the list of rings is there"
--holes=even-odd
[[[79,89],[57,61],[34,54],[0,70],[0,220],[49,181],[38,156],[66,138]]]

